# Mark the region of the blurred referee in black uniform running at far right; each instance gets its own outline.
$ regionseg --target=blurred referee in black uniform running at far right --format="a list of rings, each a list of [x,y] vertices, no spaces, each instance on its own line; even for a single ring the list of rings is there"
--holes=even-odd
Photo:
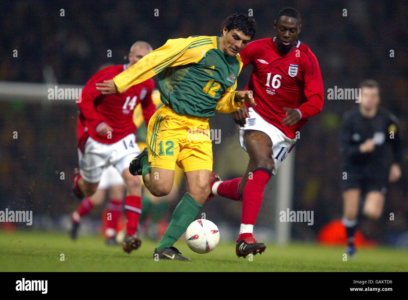
[[[360,196],[363,213],[378,220],[384,206],[387,182],[401,177],[401,137],[397,118],[378,107],[379,84],[365,80],[359,86],[359,107],[344,114],[340,132],[343,157],[343,224],[348,255],[355,253],[354,234]]]

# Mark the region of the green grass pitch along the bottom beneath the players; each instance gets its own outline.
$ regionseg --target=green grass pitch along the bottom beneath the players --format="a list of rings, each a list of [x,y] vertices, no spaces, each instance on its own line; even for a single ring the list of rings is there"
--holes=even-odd
[[[262,255],[238,259],[233,243],[198,254],[179,240],[175,247],[192,260],[180,262],[153,260],[156,245],[143,239],[140,249],[127,254],[120,246],[106,246],[100,236],[72,241],[63,233],[0,231],[0,271],[408,271],[408,251],[387,247],[359,249],[356,258],[344,261],[344,247],[268,243]]]

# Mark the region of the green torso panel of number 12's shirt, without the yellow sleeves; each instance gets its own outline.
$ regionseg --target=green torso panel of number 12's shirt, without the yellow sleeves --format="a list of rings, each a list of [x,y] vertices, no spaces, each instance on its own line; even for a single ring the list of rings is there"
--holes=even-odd
[[[182,115],[214,116],[217,101],[235,84],[241,69],[237,56],[220,51],[219,37],[217,48],[205,50],[206,43],[208,40],[204,39],[191,46],[203,48],[202,59],[197,63],[167,67],[159,73],[162,102]]]

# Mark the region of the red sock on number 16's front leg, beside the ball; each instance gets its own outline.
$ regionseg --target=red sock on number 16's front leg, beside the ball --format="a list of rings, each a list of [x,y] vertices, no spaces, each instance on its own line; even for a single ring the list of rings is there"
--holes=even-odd
[[[253,172],[252,179],[246,182],[244,196],[242,197],[241,223],[255,225],[259,208],[261,207],[264,189],[270,178],[271,171],[265,168],[257,168]],[[243,234],[239,235],[238,240],[244,238],[243,236]]]

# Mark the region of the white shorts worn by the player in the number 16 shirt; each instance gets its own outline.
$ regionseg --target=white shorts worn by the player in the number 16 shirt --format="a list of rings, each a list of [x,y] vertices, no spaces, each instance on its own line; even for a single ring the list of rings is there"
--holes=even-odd
[[[275,161],[272,175],[276,175],[277,169],[295,146],[297,139],[285,136],[282,131],[259,116],[252,107],[248,109],[248,114],[249,118],[246,118],[246,124],[239,129],[239,144],[241,144],[242,149],[248,152],[245,146],[245,131],[257,130],[266,133],[272,141],[273,160]]]

